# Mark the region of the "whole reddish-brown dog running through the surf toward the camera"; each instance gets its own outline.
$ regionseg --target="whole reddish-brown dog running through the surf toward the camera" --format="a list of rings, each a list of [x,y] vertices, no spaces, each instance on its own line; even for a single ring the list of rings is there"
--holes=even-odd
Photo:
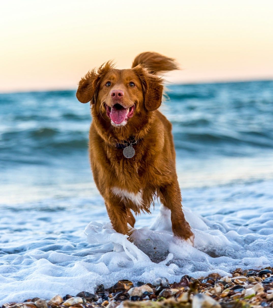
[[[157,110],[163,79],[155,74],[174,69],[174,59],[155,52],[138,55],[131,69],[115,69],[109,61],[81,79],[77,99],[91,104],[91,167],[113,228],[128,234],[127,223],[135,223],[131,210],[150,213],[159,196],[171,210],[173,234],[193,243],[182,212],[172,124]]]

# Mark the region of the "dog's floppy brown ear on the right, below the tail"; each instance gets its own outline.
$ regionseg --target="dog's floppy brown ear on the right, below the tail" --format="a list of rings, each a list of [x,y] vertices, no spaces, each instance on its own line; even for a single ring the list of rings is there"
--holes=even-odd
[[[148,111],[159,108],[163,94],[163,79],[150,73],[142,65],[133,68],[142,82],[144,106]]]

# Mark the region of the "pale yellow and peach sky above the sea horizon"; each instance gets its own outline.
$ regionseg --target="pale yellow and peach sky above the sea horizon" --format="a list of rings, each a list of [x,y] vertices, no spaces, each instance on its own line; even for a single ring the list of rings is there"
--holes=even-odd
[[[0,4],[0,92],[76,89],[113,59],[175,58],[173,83],[273,79],[272,0],[9,0]]]

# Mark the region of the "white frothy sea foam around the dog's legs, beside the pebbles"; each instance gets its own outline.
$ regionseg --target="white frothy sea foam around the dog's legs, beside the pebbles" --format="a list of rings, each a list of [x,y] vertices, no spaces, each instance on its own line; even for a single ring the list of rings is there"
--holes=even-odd
[[[237,267],[272,266],[272,187],[268,180],[183,191],[194,247],[173,238],[163,206],[156,205],[153,218],[137,217],[134,244],[112,229],[101,197],[93,205],[55,200],[58,208],[46,200],[39,211],[8,206],[1,210],[1,228],[9,231],[1,233],[0,304],[94,292],[120,279],[174,282],[184,274],[224,276]]]

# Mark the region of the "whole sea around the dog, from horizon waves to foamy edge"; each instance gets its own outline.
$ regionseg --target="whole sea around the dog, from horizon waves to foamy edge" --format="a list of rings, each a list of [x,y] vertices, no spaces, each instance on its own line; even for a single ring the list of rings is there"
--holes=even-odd
[[[194,247],[158,202],[116,233],[75,91],[0,95],[0,304],[273,265],[273,81],[171,85],[178,180]]]

